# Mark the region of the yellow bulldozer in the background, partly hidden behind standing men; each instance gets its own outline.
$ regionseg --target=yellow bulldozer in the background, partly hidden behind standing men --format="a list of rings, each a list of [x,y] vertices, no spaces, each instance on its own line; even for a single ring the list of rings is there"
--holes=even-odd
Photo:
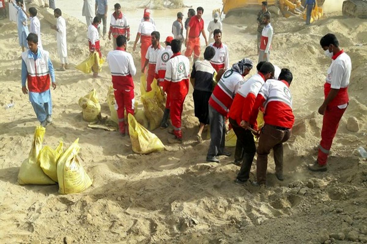
[[[248,12],[257,13],[261,9],[261,4],[264,0],[223,0],[222,12],[226,16],[230,15],[244,15]],[[325,0],[317,0],[315,9],[311,14],[311,22],[321,18],[323,9],[321,6]],[[355,0],[352,0],[355,1]],[[290,17],[294,15],[306,18],[305,2],[306,0],[267,0],[268,10],[277,15]]]

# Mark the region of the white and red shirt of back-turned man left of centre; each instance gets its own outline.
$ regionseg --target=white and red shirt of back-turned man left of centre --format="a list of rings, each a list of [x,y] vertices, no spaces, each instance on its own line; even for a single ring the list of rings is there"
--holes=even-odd
[[[113,89],[133,90],[134,80],[132,80],[132,76],[136,74],[137,70],[131,54],[118,47],[108,53],[106,60],[112,75]]]

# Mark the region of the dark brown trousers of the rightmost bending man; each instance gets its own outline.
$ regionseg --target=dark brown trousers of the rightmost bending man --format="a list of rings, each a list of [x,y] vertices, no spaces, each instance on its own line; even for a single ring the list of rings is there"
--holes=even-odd
[[[275,171],[283,172],[283,143],[291,136],[292,130],[277,129],[273,125],[265,124],[261,129],[259,146],[257,148],[256,176],[259,184],[266,183],[266,170],[268,168],[268,154],[273,149]]]

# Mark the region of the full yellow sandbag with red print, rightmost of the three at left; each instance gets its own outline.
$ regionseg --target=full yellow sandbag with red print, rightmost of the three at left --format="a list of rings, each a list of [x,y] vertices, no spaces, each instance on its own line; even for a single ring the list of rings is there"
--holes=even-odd
[[[77,158],[80,150],[78,141],[79,138],[66,149],[57,162],[60,194],[79,193],[92,185],[92,180]]]

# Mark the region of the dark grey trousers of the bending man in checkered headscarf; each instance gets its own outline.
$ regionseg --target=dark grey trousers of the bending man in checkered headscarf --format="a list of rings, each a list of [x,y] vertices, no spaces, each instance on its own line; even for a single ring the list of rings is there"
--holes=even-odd
[[[212,106],[209,106],[210,121],[210,146],[207,158],[215,157],[224,152],[224,141],[226,135],[225,117]]]

